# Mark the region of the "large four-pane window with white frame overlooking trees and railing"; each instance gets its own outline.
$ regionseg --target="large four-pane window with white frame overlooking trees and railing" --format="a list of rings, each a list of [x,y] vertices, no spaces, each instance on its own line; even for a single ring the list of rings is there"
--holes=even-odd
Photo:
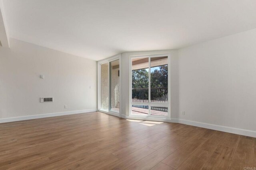
[[[170,117],[169,56],[131,57],[130,116]]]

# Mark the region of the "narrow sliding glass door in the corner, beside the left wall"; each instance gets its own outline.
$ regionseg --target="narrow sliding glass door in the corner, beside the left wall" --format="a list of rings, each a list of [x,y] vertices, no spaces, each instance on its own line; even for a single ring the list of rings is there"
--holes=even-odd
[[[100,64],[100,111],[118,114],[120,109],[119,59]]]

